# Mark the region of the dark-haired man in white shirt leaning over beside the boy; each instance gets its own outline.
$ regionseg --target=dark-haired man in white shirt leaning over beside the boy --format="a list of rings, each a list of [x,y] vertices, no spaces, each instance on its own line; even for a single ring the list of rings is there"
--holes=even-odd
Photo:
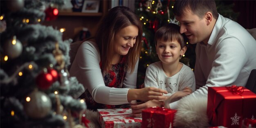
[[[197,44],[195,82],[197,89],[191,97],[207,97],[208,87],[245,86],[250,72],[256,69],[256,40],[246,29],[218,14],[214,0],[175,0],[175,18],[180,22],[180,33],[189,43]],[[177,108],[173,94],[164,101],[166,108]],[[138,112],[159,103],[132,106]]]

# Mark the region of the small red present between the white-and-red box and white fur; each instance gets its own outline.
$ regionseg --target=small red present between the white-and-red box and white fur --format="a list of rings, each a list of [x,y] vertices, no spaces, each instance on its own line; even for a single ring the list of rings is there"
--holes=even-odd
[[[142,111],[141,128],[173,128],[173,119],[177,110],[152,107]]]

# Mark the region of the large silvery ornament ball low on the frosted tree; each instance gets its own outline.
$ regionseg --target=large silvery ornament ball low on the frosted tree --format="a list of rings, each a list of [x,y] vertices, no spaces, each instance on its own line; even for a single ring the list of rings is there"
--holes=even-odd
[[[47,94],[40,91],[31,92],[24,103],[24,110],[31,118],[43,118],[52,109],[52,102]]]

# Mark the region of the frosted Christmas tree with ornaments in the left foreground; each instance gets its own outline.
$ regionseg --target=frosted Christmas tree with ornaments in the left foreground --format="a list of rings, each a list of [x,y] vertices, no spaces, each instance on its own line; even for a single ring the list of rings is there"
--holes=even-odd
[[[69,77],[72,40],[40,25],[56,18],[64,0],[1,0],[1,128],[83,128],[84,92]],[[55,6],[52,6],[55,5]],[[5,26],[6,25],[6,26]]]

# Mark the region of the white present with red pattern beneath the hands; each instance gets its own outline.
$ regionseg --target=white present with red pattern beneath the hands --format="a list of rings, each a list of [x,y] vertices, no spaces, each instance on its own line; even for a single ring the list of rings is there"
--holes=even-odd
[[[130,108],[97,109],[101,128],[141,128],[142,119],[132,116]]]

